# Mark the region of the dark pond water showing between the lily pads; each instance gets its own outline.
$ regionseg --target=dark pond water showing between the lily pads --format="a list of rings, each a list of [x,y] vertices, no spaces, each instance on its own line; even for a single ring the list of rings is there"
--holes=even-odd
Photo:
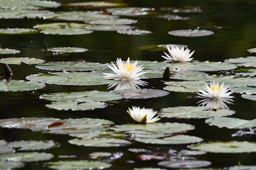
[[[60,3],[77,1],[57,1]],[[141,30],[152,31],[153,34],[143,36],[131,36],[117,34],[116,32],[94,31],[88,35],[1,35],[0,44],[2,48],[13,48],[20,50],[20,54],[2,55],[1,57],[35,57],[49,61],[73,61],[82,59],[90,62],[106,63],[115,61],[117,57],[123,60],[130,57],[132,60],[150,60],[163,61],[160,56],[163,52],[152,52],[139,50],[138,47],[152,44],[186,44],[189,49],[195,50],[194,59],[200,61],[224,61],[228,58],[252,56],[246,50],[255,47],[256,44],[256,1],[124,1],[130,7],[150,7],[155,8],[156,13],[146,16],[121,17],[136,19],[135,26]],[[201,13],[182,13],[183,17],[189,17],[188,20],[166,20],[159,18],[160,14],[168,14],[167,11],[160,11],[161,7],[180,8],[183,6],[199,6]],[[58,8],[55,11],[70,10],[67,8]],[[83,8],[74,8],[72,10],[86,10]],[[92,9],[91,9],[92,10]],[[99,9],[95,9],[99,10]],[[41,19],[1,19],[0,28],[32,28],[39,23],[50,23],[53,20]],[[168,31],[182,29],[200,29],[214,31],[215,34],[205,37],[176,37],[168,35]],[[76,46],[85,47],[89,51],[86,53],[68,54],[53,56],[44,53],[41,49],[46,48],[43,41],[46,41],[49,47],[58,46]],[[33,65],[11,65],[14,72],[13,79],[25,80],[25,77],[38,72],[47,72],[38,70]],[[0,70],[4,74],[4,69]],[[162,89],[163,82],[160,79],[148,80],[149,85],[146,88]],[[103,118],[113,121],[115,124],[131,123],[126,110],[131,106],[140,106],[160,110],[164,107],[175,106],[197,106],[199,101],[194,98],[195,94],[170,92],[169,95],[162,98],[146,100],[122,100],[118,105],[106,107],[105,109],[95,109],[93,111],[57,111],[49,110],[45,107],[47,101],[39,100],[39,95],[63,91],[83,91],[83,90],[106,90],[106,86],[57,86],[47,85],[46,88],[28,91],[28,92],[1,92],[0,96],[0,118],[15,117],[57,117],[57,118]],[[231,117],[242,119],[254,119],[256,105],[255,102],[242,99],[240,94],[233,94],[234,105],[229,105],[236,114]],[[209,127],[204,123],[204,119],[170,119],[163,118],[161,122],[179,122],[188,123],[196,127],[189,131],[189,135],[202,137],[204,141],[255,141],[255,136],[250,137],[231,137],[236,130],[220,129]],[[168,153],[169,149],[186,149],[186,145],[153,145],[133,142],[127,147],[118,148],[90,148],[78,147],[68,143],[72,137],[68,135],[49,135],[30,130],[0,129],[0,139],[7,141],[14,140],[54,140],[60,143],[59,148],[47,150],[45,152],[55,155],[55,160],[61,160],[58,155],[76,155],[74,159],[88,159],[92,152],[123,152],[121,159],[112,163],[109,169],[132,169],[134,167],[158,167],[158,161],[139,161],[135,159],[134,153],[128,152],[129,148],[144,148],[156,151],[159,155]],[[243,165],[256,165],[255,153],[246,154],[205,154],[195,156],[199,160],[211,161],[210,167],[221,168],[234,166],[240,161]],[[70,159],[71,160],[71,159]],[[128,160],[134,160],[134,163],[128,163]],[[24,169],[47,169],[44,162],[26,163]]]

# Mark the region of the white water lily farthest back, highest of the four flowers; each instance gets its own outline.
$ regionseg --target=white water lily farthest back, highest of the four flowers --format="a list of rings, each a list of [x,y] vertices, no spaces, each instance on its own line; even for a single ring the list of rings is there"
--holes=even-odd
[[[186,62],[186,61],[191,61],[193,59],[190,57],[194,54],[195,50],[189,53],[190,50],[188,50],[188,48],[184,50],[183,46],[181,48],[179,48],[178,46],[176,47],[172,46],[172,50],[169,48],[168,45],[166,47],[170,56],[164,52],[166,56],[161,56],[161,57],[163,57],[167,61]]]

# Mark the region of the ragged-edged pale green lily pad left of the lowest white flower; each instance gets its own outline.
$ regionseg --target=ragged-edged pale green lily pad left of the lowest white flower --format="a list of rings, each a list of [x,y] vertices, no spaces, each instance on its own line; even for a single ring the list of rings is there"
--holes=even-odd
[[[49,105],[46,105],[49,109],[56,110],[94,110],[94,109],[102,109],[107,105],[104,102],[52,102]]]

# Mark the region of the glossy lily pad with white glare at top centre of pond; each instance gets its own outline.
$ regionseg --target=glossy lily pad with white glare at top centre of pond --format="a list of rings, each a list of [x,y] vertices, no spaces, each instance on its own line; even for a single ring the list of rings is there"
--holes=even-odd
[[[137,8],[137,7],[124,7],[124,8],[108,8],[106,11],[112,12],[113,15],[123,16],[138,16],[147,15],[147,11],[153,11],[154,8]]]

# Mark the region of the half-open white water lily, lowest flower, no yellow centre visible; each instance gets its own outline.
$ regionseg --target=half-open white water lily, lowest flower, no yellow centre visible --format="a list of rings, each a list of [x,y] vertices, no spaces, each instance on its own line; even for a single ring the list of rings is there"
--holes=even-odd
[[[128,108],[127,113],[132,117],[132,119],[135,122],[138,123],[154,123],[160,120],[161,118],[158,118],[158,116],[154,117],[157,113],[157,111],[154,111],[153,109],[145,109],[144,107],[141,109],[140,107],[133,106],[132,109]]]

